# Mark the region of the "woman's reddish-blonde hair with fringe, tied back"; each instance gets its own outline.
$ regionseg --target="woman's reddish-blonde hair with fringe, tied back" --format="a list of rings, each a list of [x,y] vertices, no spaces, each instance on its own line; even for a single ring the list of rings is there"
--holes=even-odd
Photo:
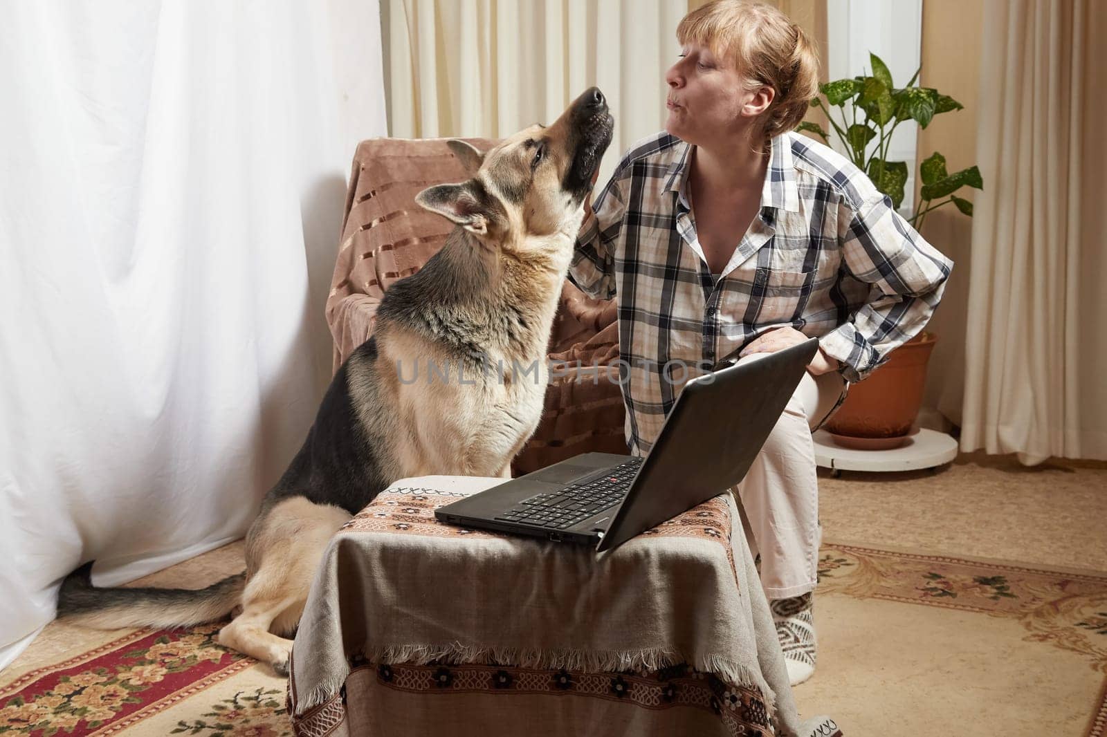
[[[676,40],[696,43],[745,74],[751,85],[767,85],[776,95],[762,114],[762,134],[795,129],[819,89],[815,43],[783,12],[751,0],[714,0],[685,15]]]

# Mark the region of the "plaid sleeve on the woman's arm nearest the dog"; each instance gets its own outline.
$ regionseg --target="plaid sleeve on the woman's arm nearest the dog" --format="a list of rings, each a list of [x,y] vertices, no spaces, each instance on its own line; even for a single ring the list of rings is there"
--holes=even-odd
[[[580,226],[569,263],[569,281],[594,299],[615,295],[614,242],[625,212],[619,175],[615,172],[592,204],[592,211]]]

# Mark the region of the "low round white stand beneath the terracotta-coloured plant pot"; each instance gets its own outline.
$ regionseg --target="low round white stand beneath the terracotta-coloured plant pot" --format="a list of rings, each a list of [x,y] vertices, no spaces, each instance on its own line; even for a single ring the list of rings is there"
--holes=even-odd
[[[937,468],[958,457],[954,438],[924,427],[915,429],[900,447],[889,450],[844,448],[823,429],[811,439],[815,442],[815,463],[829,468],[835,478],[844,470],[887,473]]]

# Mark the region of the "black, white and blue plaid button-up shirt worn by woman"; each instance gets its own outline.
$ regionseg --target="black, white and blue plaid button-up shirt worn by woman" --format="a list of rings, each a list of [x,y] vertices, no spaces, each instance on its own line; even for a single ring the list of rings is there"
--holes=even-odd
[[[922,330],[953,262],[869,178],[810,138],[773,138],[759,216],[720,277],[696,237],[691,146],[638,143],[596,197],[569,269],[591,297],[619,298],[620,382],[632,453],[652,447],[684,383],[757,335],[817,336],[860,381]]]

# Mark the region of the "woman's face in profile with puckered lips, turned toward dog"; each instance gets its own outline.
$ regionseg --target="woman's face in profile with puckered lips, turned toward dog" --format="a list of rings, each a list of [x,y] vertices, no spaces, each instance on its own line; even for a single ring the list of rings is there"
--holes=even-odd
[[[737,70],[694,43],[681,50],[680,59],[665,73],[665,131],[697,146],[741,134],[773,98],[772,87],[748,90]]]

